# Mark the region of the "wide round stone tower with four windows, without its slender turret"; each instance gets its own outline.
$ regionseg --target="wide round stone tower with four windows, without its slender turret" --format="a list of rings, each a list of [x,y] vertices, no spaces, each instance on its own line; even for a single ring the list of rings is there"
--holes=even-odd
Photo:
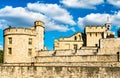
[[[29,28],[4,30],[4,63],[31,62],[35,55],[36,31]]]

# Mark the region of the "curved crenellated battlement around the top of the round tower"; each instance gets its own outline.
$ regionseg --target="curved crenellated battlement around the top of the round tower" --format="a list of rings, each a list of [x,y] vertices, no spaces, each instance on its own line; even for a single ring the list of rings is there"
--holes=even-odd
[[[7,28],[4,30],[5,35],[36,35],[36,30],[31,28]]]

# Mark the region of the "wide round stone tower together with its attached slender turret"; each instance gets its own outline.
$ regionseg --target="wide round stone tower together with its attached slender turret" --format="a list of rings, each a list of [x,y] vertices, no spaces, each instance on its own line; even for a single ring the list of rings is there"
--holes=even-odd
[[[33,62],[37,51],[44,49],[44,23],[35,21],[30,28],[4,30],[4,63]]]

